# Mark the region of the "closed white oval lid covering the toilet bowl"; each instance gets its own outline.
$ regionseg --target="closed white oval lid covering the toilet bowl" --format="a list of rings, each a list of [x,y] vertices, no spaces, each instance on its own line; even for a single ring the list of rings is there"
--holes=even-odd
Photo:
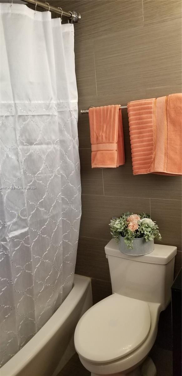
[[[150,323],[146,302],[113,294],[81,317],[75,329],[75,349],[93,363],[116,361],[144,342]]]

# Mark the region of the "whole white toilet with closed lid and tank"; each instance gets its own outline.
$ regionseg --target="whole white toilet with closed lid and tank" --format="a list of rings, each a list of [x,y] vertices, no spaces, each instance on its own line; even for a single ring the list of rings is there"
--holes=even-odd
[[[75,349],[92,376],[155,376],[147,358],[159,314],[171,299],[176,247],[129,256],[112,239],[105,246],[113,294],[91,307],[75,329]]]

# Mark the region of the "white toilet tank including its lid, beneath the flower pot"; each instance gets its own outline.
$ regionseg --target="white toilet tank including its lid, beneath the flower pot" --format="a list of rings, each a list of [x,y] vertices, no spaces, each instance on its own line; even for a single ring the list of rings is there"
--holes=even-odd
[[[105,246],[113,293],[159,303],[164,310],[171,300],[174,258],[177,248],[155,244],[153,252],[129,256],[119,251],[114,239]]]

